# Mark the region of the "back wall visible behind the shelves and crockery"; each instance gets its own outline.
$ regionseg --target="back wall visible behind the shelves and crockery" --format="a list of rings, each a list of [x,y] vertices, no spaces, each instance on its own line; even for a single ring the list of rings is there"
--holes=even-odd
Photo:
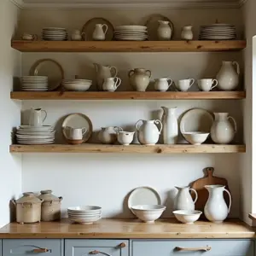
[[[158,13],[156,11],[156,13]],[[193,23],[195,32],[200,24],[219,21],[234,23],[241,34],[241,13],[238,9],[227,10],[161,10],[176,26],[176,36],[180,27]],[[82,27],[86,20],[102,15],[114,24],[130,20],[140,20],[140,10],[97,11],[23,11],[20,32],[39,33],[43,26],[67,26],[69,31]],[[131,18],[132,15],[132,18]],[[145,11],[145,16],[149,11]],[[128,21],[129,20],[129,21]],[[138,22],[138,21],[137,21]],[[51,57],[59,61],[66,77],[79,74],[84,78],[95,79],[93,62],[118,67],[123,79],[122,90],[129,88],[127,72],[134,67],[146,67],[153,72],[153,78],[170,76],[172,79],[214,77],[221,61],[241,62],[241,53],[216,54],[31,54],[22,55],[22,73],[27,74],[34,61]],[[242,65],[241,65],[242,66]],[[194,87],[195,89],[195,87]],[[196,89],[195,89],[196,90]],[[45,124],[56,125],[57,141],[62,142],[60,119],[67,113],[87,114],[98,131],[102,126],[119,125],[131,129],[138,119],[159,118],[160,106],[177,106],[180,116],[189,108],[207,108],[216,112],[229,112],[239,124],[237,143],[242,143],[241,124],[242,102],[240,101],[165,101],[165,102],[23,102],[22,110],[34,107],[48,112]],[[24,119],[26,122],[26,119]],[[239,173],[240,154],[26,154],[22,163],[22,190],[39,191],[53,189],[55,195],[64,197],[63,210],[73,205],[100,205],[105,217],[130,217],[126,207],[126,195],[137,186],[152,186],[160,192],[162,201],[167,204],[165,216],[171,215],[173,189],[175,185],[187,185],[202,177],[202,169],[216,168],[216,175],[226,177],[233,195],[232,216],[240,213]]]

